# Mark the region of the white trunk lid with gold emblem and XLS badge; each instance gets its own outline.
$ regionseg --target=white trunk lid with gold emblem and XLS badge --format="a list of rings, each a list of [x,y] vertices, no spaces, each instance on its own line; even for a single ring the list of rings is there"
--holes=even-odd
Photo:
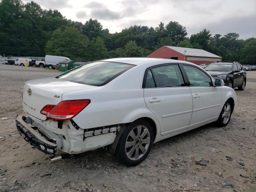
[[[40,111],[47,104],[56,105],[62,101],[62,94],[77,90],[97,88],[58,78],[43,78],[27,81],[23,88],[23,109],[30,115],[40,120],[46,120],[46,116]]]

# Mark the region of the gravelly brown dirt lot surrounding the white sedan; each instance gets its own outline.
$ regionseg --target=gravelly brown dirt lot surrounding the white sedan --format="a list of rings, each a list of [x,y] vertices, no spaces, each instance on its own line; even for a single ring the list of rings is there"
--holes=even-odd
[[[0,191],[210,191],[256,192],[256,71],[225,128],[209,124],[152,146],[146,160],[123,166],[99,149],[89,156],[52,164],[18,134],[26,80],[55,76],[38,68],[0,65]],[[226,156],[231,157],[227,160]],[[202,164],[195,160],[202,157]]]

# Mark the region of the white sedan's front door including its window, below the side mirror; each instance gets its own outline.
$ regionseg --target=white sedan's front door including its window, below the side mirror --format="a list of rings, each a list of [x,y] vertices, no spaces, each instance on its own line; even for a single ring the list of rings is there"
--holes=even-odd
[[[213,86],[212,79],[196,66],[183,64],[190,82],[193,113],[190,124],[204,124],[219,116],[222,96],[220,88]]]

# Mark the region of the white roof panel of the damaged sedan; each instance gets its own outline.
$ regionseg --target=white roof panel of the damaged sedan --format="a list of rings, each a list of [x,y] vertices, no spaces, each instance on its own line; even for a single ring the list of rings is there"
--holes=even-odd
[[[165,64],[165,63],[184,63],[184,64],[191,64],[194,66],[198,66],[194,63],[181,61],[181,60],[174,60],[174,59],[162,59],[162,58],[145,58],[145,57],[128,57],[128,58],[111,58],[111,59],[104,59],[101,61],[108,61],[108,62],[119,62],[119,63],[126,63],[132,65],[154,65],[154,64]]]

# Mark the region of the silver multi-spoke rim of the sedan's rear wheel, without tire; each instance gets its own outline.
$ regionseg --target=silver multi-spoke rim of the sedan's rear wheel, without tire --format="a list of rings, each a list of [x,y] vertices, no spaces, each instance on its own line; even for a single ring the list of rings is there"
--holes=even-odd
[[[148,151],[150,133],[143,125],[134,127],[128,134],[125,142],[126,156],[130,160],[139,160]]]

